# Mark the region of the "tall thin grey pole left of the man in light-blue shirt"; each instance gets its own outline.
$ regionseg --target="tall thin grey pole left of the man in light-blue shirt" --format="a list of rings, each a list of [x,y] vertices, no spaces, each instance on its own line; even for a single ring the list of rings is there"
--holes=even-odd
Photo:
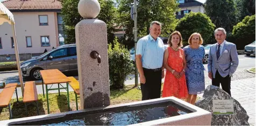
[[[137,0],[134,0],[133,7],[133,19],[134,19],[134,44],[135,44],[135,54],[136,54],[136,46],[137,46]],[[138,69],[136,66],[135,60],[135,86],[138,86]]]

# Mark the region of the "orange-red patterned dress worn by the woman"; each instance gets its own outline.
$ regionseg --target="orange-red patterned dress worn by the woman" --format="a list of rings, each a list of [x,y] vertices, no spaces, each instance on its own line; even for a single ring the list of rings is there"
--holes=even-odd
[[[180,73],[183,70],[183,54],[184,51],[179,49],[174,51],[168,47],[167,64],[170,68]],[[176,98],[184,99],[188,96],[188,89],[186,84],[185,74],[180,78],[176,78],[172,72],[166,70],[165,82],[163,83],[162,97],[174,96]]]

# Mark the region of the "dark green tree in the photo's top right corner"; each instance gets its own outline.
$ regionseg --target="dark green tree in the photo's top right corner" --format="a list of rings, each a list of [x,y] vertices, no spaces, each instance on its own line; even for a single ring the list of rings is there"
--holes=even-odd
[[[239,21],[243,20],[247,15],[255,14],[255,0],[236,0],[235,3]]]

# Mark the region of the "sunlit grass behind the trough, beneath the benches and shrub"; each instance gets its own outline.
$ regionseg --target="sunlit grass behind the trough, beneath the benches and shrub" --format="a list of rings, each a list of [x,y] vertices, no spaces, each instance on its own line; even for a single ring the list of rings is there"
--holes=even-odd
[[[123,103],[131,103],[134,101],[141,100],[141,90],[137,88],[133,88],[134,85],[127,85],[122,90],[111,90],[110,91],[110,104],[123,104]],[[163,87],[163,84],[162,84]],[[68,112],[67,105],[67,93],[51,93],[49,96],[49,108],[50,113],[61,113]],[[42,94],[38,94],[39,99],[39,115],[47,114],[47,102],[46,96],[43,97]],[[75,105],[75,93],[69,92],[69,100],[70,100],[70,108],[71,111],[76,111]],[[80,99],[78,100],[78,105],[80,109]],[[27,117],[27,116],[36,116],[37,115],[37,107],[36,103],[29,104],[27,106],[29,115],[26,115],[25,104],[22,102],[22,98],[19,98],[19,102],[17,102],[16,98],[11,99],[11,108],[12,108],[12,116],[13,119]],[[9,120],[9,111],[8,108],[0,108],[0,120]]]

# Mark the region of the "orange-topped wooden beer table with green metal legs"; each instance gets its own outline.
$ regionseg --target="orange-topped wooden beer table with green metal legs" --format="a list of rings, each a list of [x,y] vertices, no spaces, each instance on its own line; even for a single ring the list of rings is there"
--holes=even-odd
[[[48,99],[48,91],[50,90],[59,90],[59,96],[60,96],[60,89],[66,89],[67,90],[67,100],[68,100],[68,111],[70,111],[69,107],[69,92],[68,92],[68,83],[71,82],[69,78],[60,72],[58,69],[47,69],[47,70],[40,70],[41,76],[42,76],[42,91],[44,93],[44,84],[46,89],[46,99],[47,99],[47,110],[49,114],[49,99]],[[60,83],[66,83],[67,86],[63,87]],[[48,84],[58,84],[58,88],[51,89],[47,87]],[[60,88],[60,85],[62,88]]]

